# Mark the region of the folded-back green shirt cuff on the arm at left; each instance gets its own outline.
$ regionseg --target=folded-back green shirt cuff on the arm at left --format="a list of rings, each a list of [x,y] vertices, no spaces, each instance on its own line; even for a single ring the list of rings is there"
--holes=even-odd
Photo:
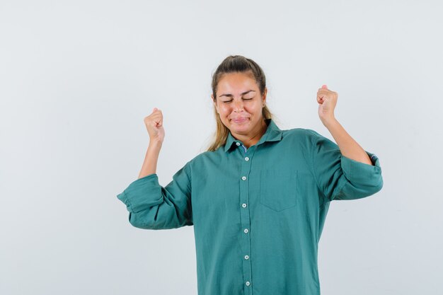
[[[127,211],[132,213],[161,204],[163,196],[158,176],[154,173],[134,180],[122,193],[117,195],[117,198],[125,203]]]

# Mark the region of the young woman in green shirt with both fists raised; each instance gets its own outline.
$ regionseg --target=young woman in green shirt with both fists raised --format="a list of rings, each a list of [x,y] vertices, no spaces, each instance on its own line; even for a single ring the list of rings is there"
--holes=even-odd
[[[165,187],[156,165],[163,114],[149,133],[139,179],[118,199],[141,229],[194,226],[200,295],[320,294],[317,251],[330,201],[381,190],[379,160],[335,119],[338,93],[318,89],[318,115],[336,143],[311,129],[281,130],[266,105],[265,74],[229,56],[215,71],[217,132]]]

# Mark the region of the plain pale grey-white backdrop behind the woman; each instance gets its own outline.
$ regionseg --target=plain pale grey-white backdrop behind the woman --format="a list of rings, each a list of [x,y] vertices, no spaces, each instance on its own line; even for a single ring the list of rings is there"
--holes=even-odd
[[[154,107],[161,185],[205,151],[212,74],[230,54],[262,66],[280,129],[333,139],[317,114],[327,84],[339,122],[379,156],[383,189],[330,205],[321,293],[443,294],[442,11],[441,1],[1,0],[0,294],[197,294],[193,227],[134,228],[116,196],[138,177]]]

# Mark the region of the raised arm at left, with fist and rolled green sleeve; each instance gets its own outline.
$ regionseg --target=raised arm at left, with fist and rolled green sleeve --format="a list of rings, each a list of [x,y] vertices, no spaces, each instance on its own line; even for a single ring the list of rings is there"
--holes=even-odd
[[[117,198],[126,204],[130,224],[140,229],[176,229],[192,225],[190,162],[173,175],[165,187],[159,184],[156,166],[164,138],[163,115],[154,108],[144,119],[149,132],[139,178],[134,180]]]

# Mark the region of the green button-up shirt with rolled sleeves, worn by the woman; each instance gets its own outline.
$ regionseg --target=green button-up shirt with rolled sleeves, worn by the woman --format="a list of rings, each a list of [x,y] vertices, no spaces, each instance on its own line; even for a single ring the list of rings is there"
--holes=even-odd
[[[165,187],[156,174],[117,198],[140,229],[194,226],[199,295],[318,295],[317,251],[333,199],[381,190],[373,165],[342,156],[311,129],[265,134],[246,149],[226,144],[188,161]]]

